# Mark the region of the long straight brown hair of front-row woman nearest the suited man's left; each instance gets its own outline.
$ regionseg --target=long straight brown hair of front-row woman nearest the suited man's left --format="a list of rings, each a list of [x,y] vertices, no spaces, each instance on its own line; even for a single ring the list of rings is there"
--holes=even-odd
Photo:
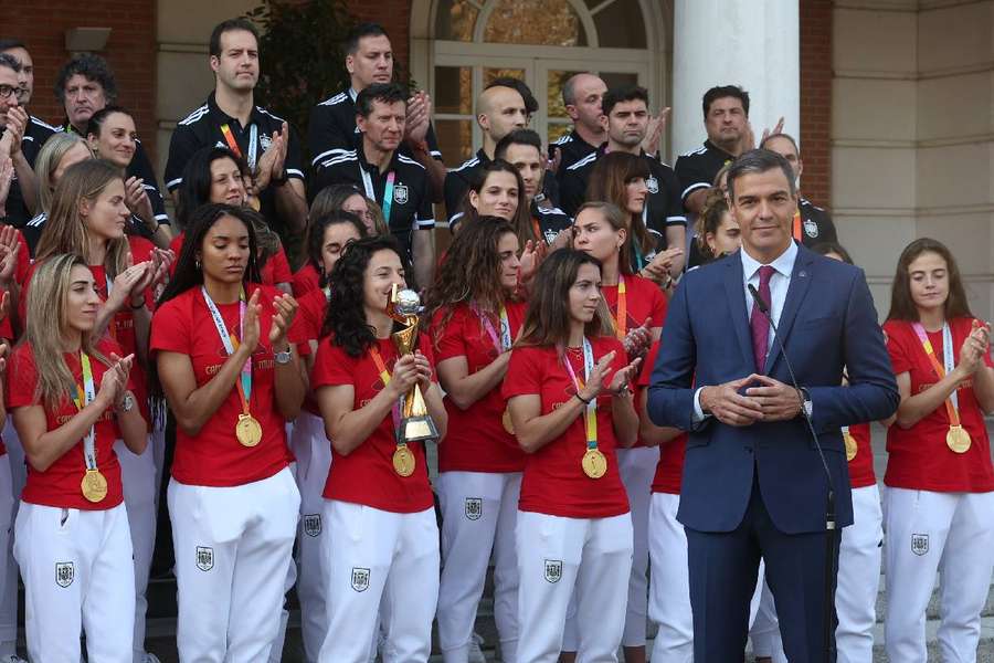
[[[567,344],[570,338],[570,288],[582,265],[594,265],[600,270],[601,261],[575,249],[559,249],[542,261],[518,345],[562,347]],[[614,334],[603,297],[583,334],[588,337]]]

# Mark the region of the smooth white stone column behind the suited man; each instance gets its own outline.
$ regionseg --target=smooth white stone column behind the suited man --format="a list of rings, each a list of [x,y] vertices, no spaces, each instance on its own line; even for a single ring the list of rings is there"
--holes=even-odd
[[[757,141],[781,116],[803,138],[799,0],[676,0],[673,52],[675,157],[704,143],[701,97],[715,85],[749,92]]]

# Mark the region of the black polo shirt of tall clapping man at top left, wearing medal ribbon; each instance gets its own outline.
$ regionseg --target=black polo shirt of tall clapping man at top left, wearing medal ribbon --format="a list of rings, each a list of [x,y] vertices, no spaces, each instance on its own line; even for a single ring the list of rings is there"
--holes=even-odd
[[[228,125],[242,157],[248,164],[248,168],[254,170],[263,154],[272,143],[272,136],[275,131],[283,129],[285,120],[273,115],[262,106],[253,106],[248,116],[248,124],[242,124],[231,117],[224,110],[218,107],[218,102],[212,92],[208,96],[205,104],[190,113],[186,118],[181,119],[172,131],[172,140],[169,143],[169,159],[166,161],[166,188],[169,191],[176,189],[183,181],[183,169],[187,161],[193,154],[204,147],[229,147],[224,139],[224,133],[221,127]],[[255,141],[253,143],[253,136]],[[300,143],[294,133],[293,127],[289,129],[289,141],[286,148],[286,160],[284,161],[286,176],[288,178],[304,181],[304,168],[300,161]],[[277,232],[283,231],[282,220],[276,214],[276,202],[273,187],[267,187],[260,193],[260,211]]]

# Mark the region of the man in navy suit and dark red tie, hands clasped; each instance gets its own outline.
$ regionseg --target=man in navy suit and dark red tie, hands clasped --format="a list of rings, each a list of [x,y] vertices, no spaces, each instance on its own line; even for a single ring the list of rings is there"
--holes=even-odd
[[[863,272],[791,238],[797,192],[787,161],[747,152],[728,189],[742,250],[684,277],[648,397],[656,424],[690,432],[677,518],[687,532],[694,661],[742,661],[763,558],[787,657],[821,662],[829,657],[825,606],[834,606],[825,569],[837,560],[826,546],[829,482],[837,526],[853,523],[839,428],[888,418],[899,394]],[[769,303],[800,390],[749,285]]]

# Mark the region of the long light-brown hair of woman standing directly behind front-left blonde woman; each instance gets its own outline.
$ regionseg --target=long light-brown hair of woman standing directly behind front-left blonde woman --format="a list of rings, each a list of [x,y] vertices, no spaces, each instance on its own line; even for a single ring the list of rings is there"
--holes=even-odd
[[[124,181],[118,169],[97,159],[81,161],[66,169],[55,187],[52,210],[38,243],[38,262],[60,253],[75,253],[83,256],[86,264],[92,263],[89,231],[83,222],[80,208],[84,200],[93,203],[115,180]],[[127,235],[107,242],[103,266],[107,272],[108,283],[127,269],[128,251]]]

